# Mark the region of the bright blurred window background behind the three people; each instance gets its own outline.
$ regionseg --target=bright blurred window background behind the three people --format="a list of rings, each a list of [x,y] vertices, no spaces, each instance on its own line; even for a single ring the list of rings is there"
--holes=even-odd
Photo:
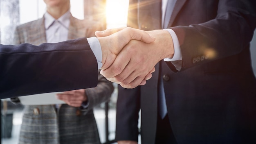
[[[129,0],[70,0],[71,13],[85,24],[100,24],[106,28],[126,26]],[[14,28],[43,17],[43,0],[0,0],[0,42],[11,44]],[[256,31],[251,42],[252,66],[256,75]],[[101,143],[115,143],[115,116],[117,84],[108,103],[94,109]],[[1,144],[17,144],[23,105],[14,105],[9,99],[1,100]]]

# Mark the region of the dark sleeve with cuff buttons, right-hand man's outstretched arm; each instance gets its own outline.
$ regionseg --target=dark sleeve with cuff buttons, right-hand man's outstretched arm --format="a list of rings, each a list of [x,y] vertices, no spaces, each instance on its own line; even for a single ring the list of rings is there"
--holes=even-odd
[[[255,3],[253,0],[219,0],[215,18],[200,24],[171,27],[180,42],[182,70],[238,55],[248,48],[256,26]],[[181,13],[176,21],[182,17]]]

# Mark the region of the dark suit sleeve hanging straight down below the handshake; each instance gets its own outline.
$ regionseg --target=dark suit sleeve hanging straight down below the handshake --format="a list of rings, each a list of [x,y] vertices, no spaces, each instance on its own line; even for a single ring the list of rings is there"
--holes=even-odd
[[[140,86],[125,89],[119,85],[117,97],[116,140],[138,141]]]

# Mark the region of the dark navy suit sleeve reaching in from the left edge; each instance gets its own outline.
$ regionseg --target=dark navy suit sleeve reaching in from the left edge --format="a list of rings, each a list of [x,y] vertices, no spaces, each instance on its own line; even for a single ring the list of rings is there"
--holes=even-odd
[[[97,60],[86,38],[39,46],[0,45],[0,98],[95,87]]]

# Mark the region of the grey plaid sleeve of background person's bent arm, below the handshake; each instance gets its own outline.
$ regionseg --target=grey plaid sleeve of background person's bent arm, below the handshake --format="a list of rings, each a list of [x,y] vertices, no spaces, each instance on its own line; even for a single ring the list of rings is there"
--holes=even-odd
[[[85,89],[85,94],[88,98],[89,105],[86,109],[82,109],[84,115],[101,103],[107,102],[110,99],[110,96],[114,90],[112,82],[108,81],[99,72],[97,87]]]

